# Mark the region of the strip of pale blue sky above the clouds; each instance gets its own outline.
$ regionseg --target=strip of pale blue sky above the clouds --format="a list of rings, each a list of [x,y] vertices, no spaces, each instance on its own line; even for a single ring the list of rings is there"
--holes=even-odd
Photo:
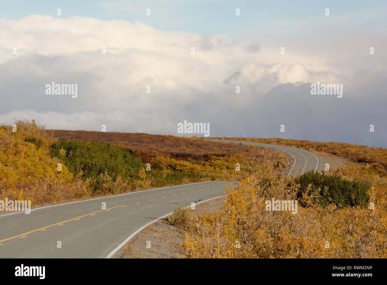
[[[330,9],[330,17],[336,25],[351,30],[378,29],[386,23],[385,17],[381,17],[384,12],[378,9],[380,5],[385,5],[385,1],[13,0],[1,1],[0,18],[21,19],[31,14],[58,17],[56,11],[61,8],[63,19],[69,16],[122,19],[143,22],[156,29],[251,38],[308,27],[313,32],[313,21],[324,17],[325,8]],[[151,9],[151,17],[146,16],[147,8]],[[241,17],[235,17],[236,8],[241,9]],[[383,13],[369,13],[370,10]],[[295,21],[295,24],[281,26],[279,22],[283,21]]]

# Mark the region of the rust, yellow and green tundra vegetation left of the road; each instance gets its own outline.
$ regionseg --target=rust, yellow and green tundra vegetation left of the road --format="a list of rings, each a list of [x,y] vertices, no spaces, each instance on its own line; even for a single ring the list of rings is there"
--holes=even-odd
[[[33,207],[232,180],[236,163],[253,154],[250,147],[196,137],[54,131],[26,120],[14,124],[0,125],[0,199],[31,200]]]

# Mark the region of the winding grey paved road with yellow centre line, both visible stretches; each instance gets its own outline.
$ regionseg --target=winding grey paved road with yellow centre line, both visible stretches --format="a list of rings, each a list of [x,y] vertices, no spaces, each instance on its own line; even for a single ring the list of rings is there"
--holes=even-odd
[[[314,155],[304,150],[247,144],[284,150],[295,158],[302,171],[317,168],[317,157],[313,160]],[[296,174],[296,165],[289,174]],[[33,209],[30,214],[3,214],[0,258],[119,257],[123,245],[136,233],[170,214],[175,206],[222,197],[224,186],[230,183],[192,183],[46,206]],[[103,202],[106,209],[102,209]]]

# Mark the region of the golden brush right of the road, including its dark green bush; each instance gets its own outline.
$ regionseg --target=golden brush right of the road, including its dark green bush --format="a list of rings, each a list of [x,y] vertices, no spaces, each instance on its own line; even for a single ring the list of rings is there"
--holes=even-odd
[[[378,159],[372,150],[370,156]],[[238,188],[226,190],[221,211],[188,221],[182,243],[188,258],[387,257],[383,171],[359,164],[331,175],[311,171],[291,178],[275,167],[279,157],[258,152],[260,157],[247,164],[247,175],[239,177]],[[265,201],[273,197],[297,200],[297,214],[266,211]]]

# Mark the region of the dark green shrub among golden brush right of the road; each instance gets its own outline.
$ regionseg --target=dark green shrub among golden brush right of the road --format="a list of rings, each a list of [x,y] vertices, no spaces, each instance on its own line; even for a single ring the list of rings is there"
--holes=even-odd
[[[367,191],[370,185],[358,182],[344,180],[337,174],[325,175],[314,171],[308,171],[294,179],[297,184],[300,184],[297,198],[300,200],[302,193],[312,184],[308,195],[314,193],[320,188],[319,203],[322,207],[328,206],[330,203],[336,204],[337,207],[352,207],[362,206],[367,207],[369,196]],[[302,201],[300,201],[301,206]]]

